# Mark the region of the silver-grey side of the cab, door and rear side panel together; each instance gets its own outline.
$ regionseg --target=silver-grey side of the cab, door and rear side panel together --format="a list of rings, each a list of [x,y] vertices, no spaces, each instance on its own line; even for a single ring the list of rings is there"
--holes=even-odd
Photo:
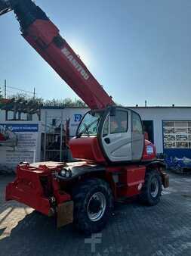
[[[98,138],[109,161],[140,161],[144,136],[139,114],[128,108],[111,108],[100,122]]]

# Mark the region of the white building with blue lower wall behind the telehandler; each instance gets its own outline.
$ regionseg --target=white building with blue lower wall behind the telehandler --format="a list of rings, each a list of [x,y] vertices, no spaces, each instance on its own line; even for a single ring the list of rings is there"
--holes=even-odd
[[[149,140],[156,145],[156,151],[158,154],[165,155],[165,159],[169,166],[176,165],[178,167],[191,167],[191,107],[172,106],[129,108],[140,114],[140,117],[143,120],[143,128],[148,134]],[[59,131],[59,127],[66,127],[66,120],[69,120],[69,137],[71,138],[75,136],[77,127],[87,111],[88,108],[42,108],[41,120],[39,121],[39,118],[35,115],[30,122],[6,121],[5,111],[1,111],[0,126],[8,124],[9,126],[12,125],[14,129],[13,124],[18,124],[19,126],[17,126],[17,129],[20,129],[21,131],[22,129],[24,130],[26,125],[29,125],[30,128],[28,128],[28,133],[26,135],[28,136],[29,142],[33,144],[36,142],[35,147],[32,144],[31,149],[35,154],[33,159],[35,159],[35,161],[43,161],[45,160],[45,152],[42,153],[42,148],[45,144],[45,142],[43,142],[43,134],[44,141],[45,134],[48,133],[52,134],[51,137],[57,139],[57,143],[60,143],[61,145],[62,142],[60,142],[59,139],[59,132],[57,133],[57,131]],[[38,129],[36,128],[37,130],[33,130],[32,135],[32,130],[30,129],[34,126],[38,127]],[[17,131],[17,133],[19,132]],[[21,135],[21,133],[18,135]],[[62,146],[60,146],[60,148],[58,146],[57,151],[61,148]],[[0,149],[3,152],[2,148]],[[19,149],[21,150],[22,147]],[[6,148],[6,150],[9,152],[10,157],[10,150],[12,149]],[[53,147],[51,150],[55,151]],[[5,155],[5,152],[1,153],[1,155],[3,154]],[[30,159],[32,159],[32,157]]]

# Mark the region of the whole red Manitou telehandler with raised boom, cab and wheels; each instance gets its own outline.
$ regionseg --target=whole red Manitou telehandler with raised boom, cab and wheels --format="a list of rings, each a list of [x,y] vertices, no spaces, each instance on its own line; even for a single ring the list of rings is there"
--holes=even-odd
[[[144,139],[140,115],[115,105],[34,2],[1,0],[0,8],[1,14],[14,11],[23,38],[91,108],[69,142],[79,161],[20,163],[6,199],[56,216],[57,226],[73,222],[89,234],[103,229],[116,200],[137,195],[157,204],[168,175],[155,146]]]

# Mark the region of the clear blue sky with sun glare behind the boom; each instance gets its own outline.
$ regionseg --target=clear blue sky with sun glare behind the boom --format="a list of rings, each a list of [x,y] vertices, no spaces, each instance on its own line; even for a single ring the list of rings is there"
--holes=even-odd
[[[190,0],[35,3],[117,103],[191,105]],[[78,98],[20,36],[13,13],[0,17],[0,31],[0,86],[6,79],[45,99]]]

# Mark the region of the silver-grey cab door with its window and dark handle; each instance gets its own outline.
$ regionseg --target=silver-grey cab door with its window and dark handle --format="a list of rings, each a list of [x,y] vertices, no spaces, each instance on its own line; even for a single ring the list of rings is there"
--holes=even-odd
[[[101,144],[109,161],[131,161],[131,111],[116,108],[107,115],[102,128]]]

